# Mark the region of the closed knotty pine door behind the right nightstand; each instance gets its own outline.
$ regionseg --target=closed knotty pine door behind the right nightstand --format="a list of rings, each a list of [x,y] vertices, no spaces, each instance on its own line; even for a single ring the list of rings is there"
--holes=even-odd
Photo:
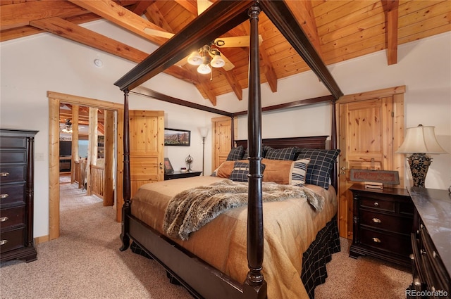
[[[350,169],[395,170],[393,97],[339,104],[339,205],[340,236],[352,238],[352,193],[348,190]],[[396,145],[398,142],[396,142]]]

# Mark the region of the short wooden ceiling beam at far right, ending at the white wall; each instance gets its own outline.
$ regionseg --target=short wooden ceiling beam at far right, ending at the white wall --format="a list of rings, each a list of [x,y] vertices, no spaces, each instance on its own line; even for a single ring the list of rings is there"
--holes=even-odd
[[[387,23],[387,63],[393,65],[397,63],[397,24],[400,3],[397,0],[382,0],[382,4]]]

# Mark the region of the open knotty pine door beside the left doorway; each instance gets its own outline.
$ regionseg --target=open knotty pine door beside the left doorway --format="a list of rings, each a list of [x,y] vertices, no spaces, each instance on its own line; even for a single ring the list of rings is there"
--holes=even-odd
[[[130,196],[164,179],[164,111],[130,110]]]

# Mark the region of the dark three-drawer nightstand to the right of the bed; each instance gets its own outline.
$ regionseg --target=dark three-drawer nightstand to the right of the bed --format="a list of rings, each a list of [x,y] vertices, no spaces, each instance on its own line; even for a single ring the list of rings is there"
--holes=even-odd
[[[350,257],[371,255],[409,266],[414,205],[406,189],[366,189],[354,184],[354,231]]]

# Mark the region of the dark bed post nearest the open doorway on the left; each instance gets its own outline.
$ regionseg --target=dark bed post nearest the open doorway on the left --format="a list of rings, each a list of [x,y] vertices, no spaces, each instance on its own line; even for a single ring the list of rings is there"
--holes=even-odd
[[[124,205],[122,207],[122,247],[121,251],[126,250],[130,246],[130,236],[127,232],[129,229],[128,216],[130,215],[130,129],[128,117],[128,89],[124,90],[124,175],[123,175],[123,197]]]

